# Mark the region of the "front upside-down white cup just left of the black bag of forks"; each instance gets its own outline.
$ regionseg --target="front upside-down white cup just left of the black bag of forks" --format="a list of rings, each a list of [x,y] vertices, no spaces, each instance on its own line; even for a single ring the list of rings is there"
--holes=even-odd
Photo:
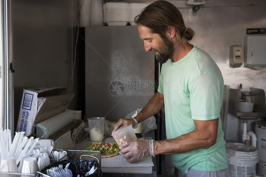
[[[23,174],[36,174],[39,171],[37,158],[29,157],[25,158],[22,166],[21,173]]]

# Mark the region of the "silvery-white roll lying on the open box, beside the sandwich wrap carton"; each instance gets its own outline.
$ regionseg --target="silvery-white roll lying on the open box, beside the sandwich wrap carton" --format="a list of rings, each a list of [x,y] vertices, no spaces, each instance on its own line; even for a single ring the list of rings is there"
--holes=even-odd
[[[55,115],[47,120],[36,124],[36,137],[40,139],[47,139],[52,134],[65,128],[74,120],[74,113],[69,110]]]

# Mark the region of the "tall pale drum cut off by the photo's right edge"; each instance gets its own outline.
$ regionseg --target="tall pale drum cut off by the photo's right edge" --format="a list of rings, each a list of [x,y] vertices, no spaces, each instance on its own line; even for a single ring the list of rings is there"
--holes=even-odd
[[[266,121],[255,122],[255,124],[257,148],[260,159],[257,165],[257,173],[266,175]]]

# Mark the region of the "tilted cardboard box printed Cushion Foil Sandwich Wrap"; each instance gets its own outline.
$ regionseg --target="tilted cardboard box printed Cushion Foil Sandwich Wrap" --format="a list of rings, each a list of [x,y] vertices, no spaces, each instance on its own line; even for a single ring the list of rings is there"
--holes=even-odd
[[[16,132],[32,133],[32,125],[66,111],[74,94],[66,87],[24,89]]]

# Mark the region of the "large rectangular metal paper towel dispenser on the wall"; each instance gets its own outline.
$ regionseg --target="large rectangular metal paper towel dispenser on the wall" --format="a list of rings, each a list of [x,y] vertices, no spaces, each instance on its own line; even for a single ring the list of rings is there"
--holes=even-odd
[[[266,66],[266,36],[244,37],[244,67]]]

